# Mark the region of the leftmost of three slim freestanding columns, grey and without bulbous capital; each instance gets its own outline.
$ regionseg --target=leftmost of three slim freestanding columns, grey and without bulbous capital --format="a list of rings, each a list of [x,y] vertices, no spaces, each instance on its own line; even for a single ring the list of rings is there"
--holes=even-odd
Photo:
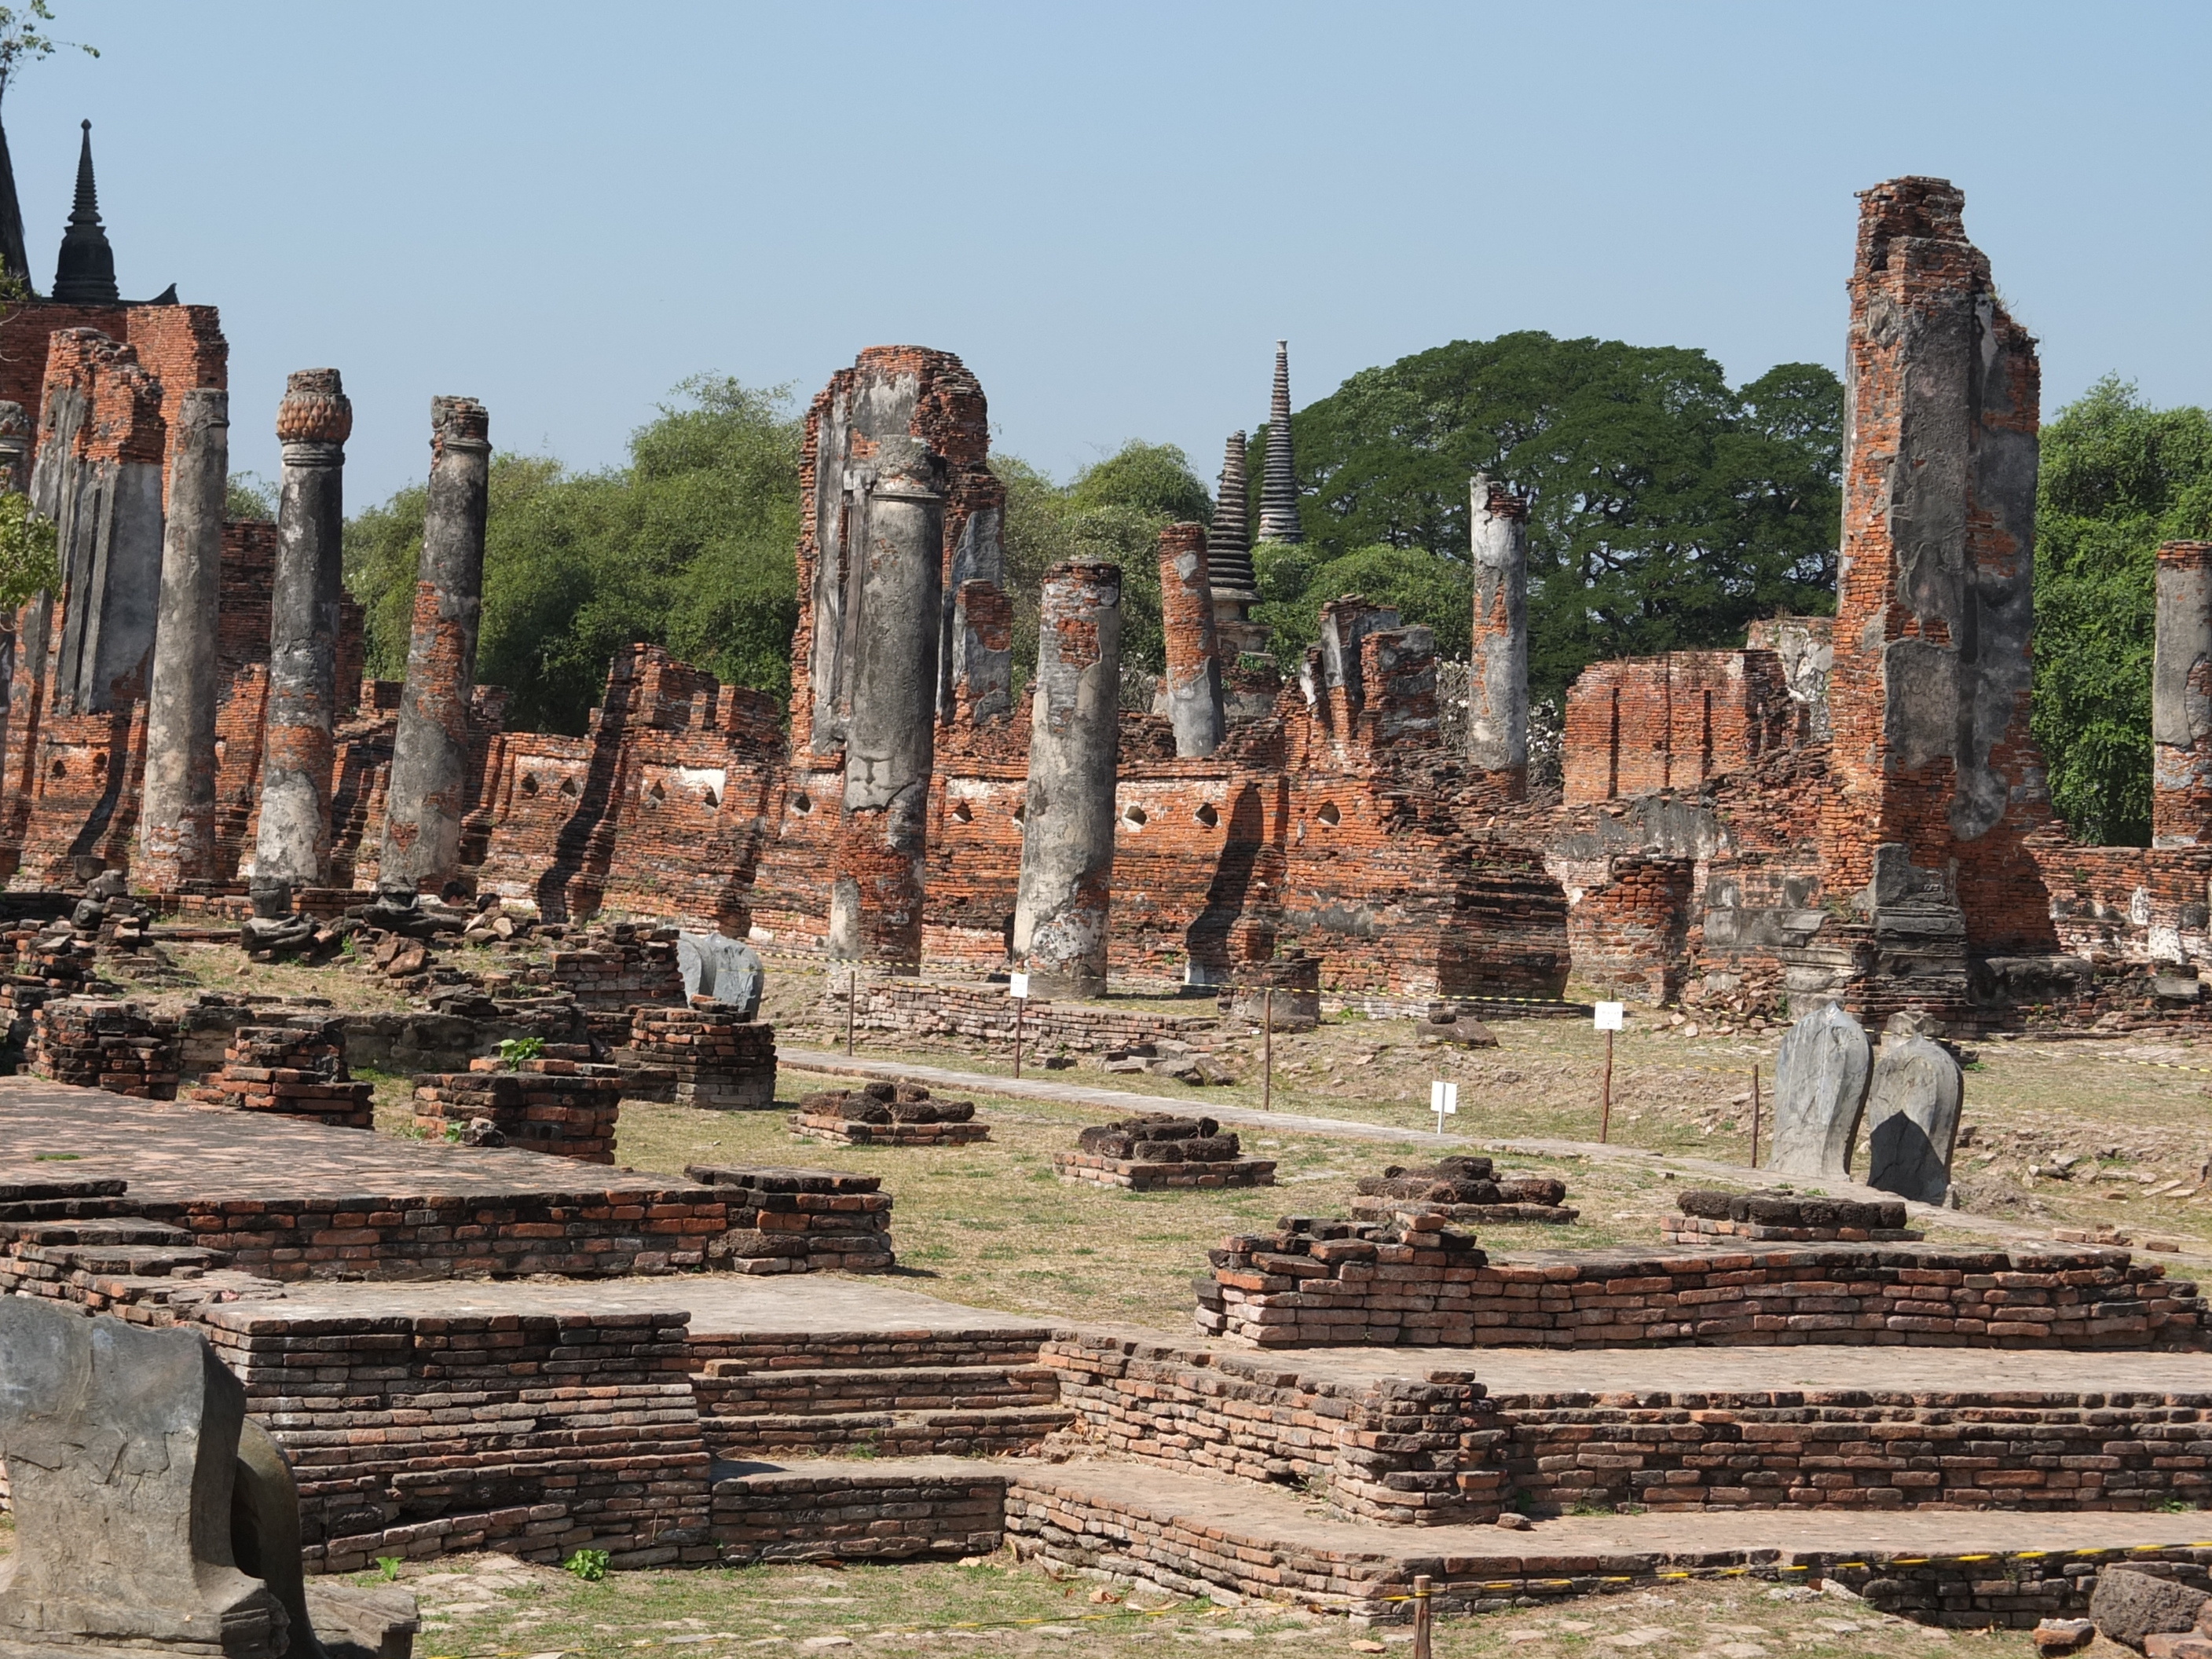
[[[215,876],[215,626],[228,478],[230,394],[206,387],[181,394],[170,422],[135,872],[155,891]]]

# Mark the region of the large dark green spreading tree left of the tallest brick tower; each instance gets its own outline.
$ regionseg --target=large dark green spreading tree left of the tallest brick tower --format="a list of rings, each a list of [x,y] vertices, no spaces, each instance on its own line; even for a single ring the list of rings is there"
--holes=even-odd
[[[1703,352],[1502,334],[1363,369],[1292,418],[1305,582],[1274,560],[1274,606],[1318,615],[1352,555],[1394,602],[1467,586],[1467,480],[1531,498],[1531,681],[1590,661],[1741,641],[1776,608],[1834,608],[1843,387],[1785,363],[1732,389]],[[1254,440],[1254,513],[1265,431]],[[1374,549],[1425,553],[1385,566]],[[1367,597],[1380,597],[1369,593]],[[1411,615],[1411,611],[1409,611]],[[1436,626],[1436,624],[1431,624]],[[1464,622],[1444,639],[1467,639]],[[1294,655],[1310,635],[1279,637]],[[1464,646],[1462,646],[1464,648]]]

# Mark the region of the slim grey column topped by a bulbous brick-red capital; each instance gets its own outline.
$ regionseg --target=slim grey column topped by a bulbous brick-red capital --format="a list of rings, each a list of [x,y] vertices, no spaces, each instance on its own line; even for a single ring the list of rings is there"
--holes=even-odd
[[[270,701],[261,752],[254,911],[290,907],[290,889],[330,878],[332,719],[338,701],[338,599],[345,535],[345,438],[354,405],[336,369],[299,369],[276,405],[283,489],[270,582]]]

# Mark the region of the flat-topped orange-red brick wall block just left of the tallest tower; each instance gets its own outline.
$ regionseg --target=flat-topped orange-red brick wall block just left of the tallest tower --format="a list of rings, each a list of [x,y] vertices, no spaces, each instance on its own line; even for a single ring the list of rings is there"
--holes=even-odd
[[[1803,734],[1772,650],[1674,650],[1584,668],[1566,688],[1566,801],[1697,790]]]

